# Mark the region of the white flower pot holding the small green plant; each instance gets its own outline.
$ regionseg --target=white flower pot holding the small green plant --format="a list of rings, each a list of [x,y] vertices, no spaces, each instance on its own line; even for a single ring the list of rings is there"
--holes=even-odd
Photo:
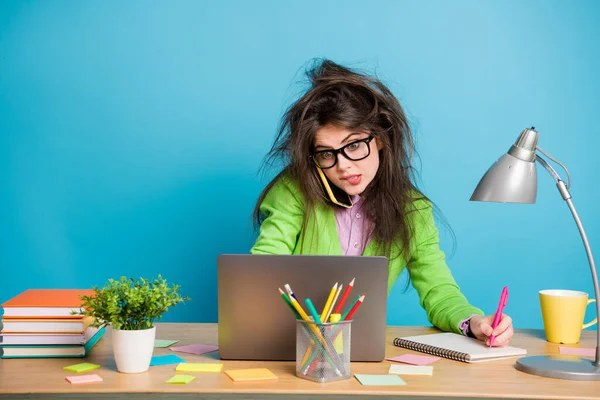
[[[156,327],[138,331],[112,330],[117,370],[127,374],[148,371],[154,351]]]

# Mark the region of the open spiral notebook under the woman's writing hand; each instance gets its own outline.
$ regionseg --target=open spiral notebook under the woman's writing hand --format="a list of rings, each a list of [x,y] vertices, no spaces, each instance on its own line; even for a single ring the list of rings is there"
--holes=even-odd
[[[434,333],[394,339],[394,346],[462,362],[480,362],[527,355],[517,347],[488,347],[485,343],[456,333]]]

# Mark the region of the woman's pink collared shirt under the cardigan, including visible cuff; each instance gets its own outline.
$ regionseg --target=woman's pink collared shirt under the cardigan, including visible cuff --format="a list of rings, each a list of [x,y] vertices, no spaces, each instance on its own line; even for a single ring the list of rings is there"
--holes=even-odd
[[[371,241],[371,237],[366,237],[370,231],[370,221],[365,218],[360,196],[354,195],[350,196],[350,198],[353,203],[352,208],[337,208],[335,210],[335,223],[340,238],[342,254],[345,256],[360,256]],[[465,318],[459,325],[460,331],[465,336],[468,336],[471,318],[472,316]]]

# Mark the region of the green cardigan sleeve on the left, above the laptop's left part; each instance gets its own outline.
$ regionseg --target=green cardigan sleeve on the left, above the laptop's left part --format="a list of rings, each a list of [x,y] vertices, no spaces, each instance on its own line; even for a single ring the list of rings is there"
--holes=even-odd
[[[289,178],[281,177],[273,185],[260,212],[264,220],[250,253],[292,254],[304,221],[304,201]]]

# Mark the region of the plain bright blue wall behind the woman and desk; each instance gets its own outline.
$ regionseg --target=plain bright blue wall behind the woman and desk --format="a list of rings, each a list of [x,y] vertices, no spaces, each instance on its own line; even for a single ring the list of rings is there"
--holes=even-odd
[[[468,299],[493,313],[508,285],[516,327],[542,327],[538,290],[593,291],[552,179],[538,168],[536,205],[468,200],[535,125],[600,248],[598,4],[3,1],[0,301],[162,273],[193,298],[164,320],[216,321],[216,257],[251,247],[262,157],[302,67],[328,57],[406,108]],[[426,324],[404,288],[388,322]]]

